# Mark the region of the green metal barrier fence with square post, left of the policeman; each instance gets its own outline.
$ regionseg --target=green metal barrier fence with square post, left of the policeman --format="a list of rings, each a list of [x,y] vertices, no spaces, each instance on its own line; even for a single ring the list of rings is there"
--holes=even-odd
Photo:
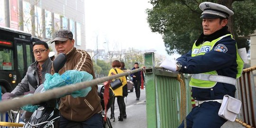
[[[145,53],[144,58],[147,128],[177,128],[191,111],[191,88],[184,86],[186,98],[182,98],[178,73],[155,68],[154,53]],[[186,84],[189,78],[184,77]],[[182,100],[185,100],[184,104],[181,104]]]

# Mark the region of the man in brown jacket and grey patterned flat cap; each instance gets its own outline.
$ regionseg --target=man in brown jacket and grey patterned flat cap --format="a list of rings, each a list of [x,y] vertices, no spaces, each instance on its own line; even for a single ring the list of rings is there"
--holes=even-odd
[[[86,71],[95,78],[91,56],[84,50],[74,47],[73,34],[69,30],[59,30],[54,34],[51,43],[55,43],[57,54],[64,53],[67,57],[65,66],[59,71]],[[54,73],[52,68],[52,74]],[[65,128],[70,121],[81,122],[83,128],[102,128],[101,103],[98,96],[98,86],[91,86],[91,91],[85,97],[73,98],[67,95],[61,98],[60,127]]]

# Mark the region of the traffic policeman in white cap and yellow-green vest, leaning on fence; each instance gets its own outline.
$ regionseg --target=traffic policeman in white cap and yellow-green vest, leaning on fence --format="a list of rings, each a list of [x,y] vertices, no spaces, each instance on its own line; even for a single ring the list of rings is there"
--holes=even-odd
[[[227,27],[234,12],[212,2],[202,2],[199,7],[203,32],[192,50],[176,62],[164,61],[160,66],[193,74],[189,85],[196,107],[186,117],[187,128],[220,128],[227,121],[218,115],[223,96],[235,97],[236,79],[244,63]],[[184,121],[179,128],[184,128]]]

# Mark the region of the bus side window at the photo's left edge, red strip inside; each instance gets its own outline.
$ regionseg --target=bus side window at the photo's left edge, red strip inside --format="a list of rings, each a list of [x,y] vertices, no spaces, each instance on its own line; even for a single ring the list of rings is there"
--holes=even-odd
[[[0,48],[0,70],[13,70],[13,51]]]

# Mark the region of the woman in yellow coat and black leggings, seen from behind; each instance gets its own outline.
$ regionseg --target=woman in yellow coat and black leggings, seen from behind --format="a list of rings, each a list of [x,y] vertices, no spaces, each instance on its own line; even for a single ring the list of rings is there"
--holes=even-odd
[[[124,73],[121,69],[119,69],[121,67],[121,63],[118,61],[118,60],[114,60],[112,62],[112,69],[110,69],[110,72],[109,72],[109,76],[110,75],[114,75],[114,74],[117,74],[117,73]],[[115,71],[116,69],[116,71]],[[114,94],[115,94],[115,97],[117,98],[117,101],[118,101],[118,106],[119,106],[119,111],[120,111],[120,116],[119,116],[119,121],[123,121],[123,118],[125,117],[126,118],[126,115],[124,115],[124,98],[123,98],[123,86],[127,84],[127,80],[125,78],[126,76],[121,76],[119,77],[120,80],[122,81],[122,86],[120,86],[119,88],[117,88],[116,90],[113,90],[114,91]],[[115,99],[114,99],[114,102],[111,106],[111,116],[110,116],[110,119],[113,119],[113,122],[115,121],[115,116],[114,116],[114,106],[115,104]]]

